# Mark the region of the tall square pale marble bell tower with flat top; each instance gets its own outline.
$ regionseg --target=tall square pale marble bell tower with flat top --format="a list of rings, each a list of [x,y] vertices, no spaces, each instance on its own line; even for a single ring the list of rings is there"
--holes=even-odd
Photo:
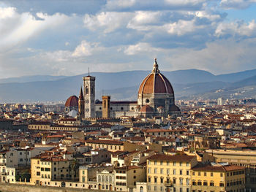
[[[95,77],[83,77],[85,118],[95,118]]]

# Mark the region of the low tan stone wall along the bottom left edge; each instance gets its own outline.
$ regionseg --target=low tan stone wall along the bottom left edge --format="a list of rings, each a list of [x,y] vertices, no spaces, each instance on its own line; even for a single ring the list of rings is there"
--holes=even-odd
[[[10,183],[0,183],[1,192],[99,192],[92,189],[81,188],[60,188],[60,187],[48,187],[48,186],[36,186],[36,185],[20,185]],[[104,191],[110,192],[110,191]]]

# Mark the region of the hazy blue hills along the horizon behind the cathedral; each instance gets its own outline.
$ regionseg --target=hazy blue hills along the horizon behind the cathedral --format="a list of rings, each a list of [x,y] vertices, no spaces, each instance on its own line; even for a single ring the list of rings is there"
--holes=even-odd
[[[140,82],[149,71],[92,72],[96,77],[96,94],[108,94],[112,100],[136,100]],[[173,85],[176,99],[197,97],[218,98],[219,96],[242,96],[236,91],[246,91],[244,96],[255,96],[250,86],[256,87],[256,69],[233,74],[214,75],[197,69],[162,72]],[[0,79],[0,102],[17,101],[65,101],[78,95],[83,85],[83,76],[24,76]],[[243,92],[245,93],[245,92]]]

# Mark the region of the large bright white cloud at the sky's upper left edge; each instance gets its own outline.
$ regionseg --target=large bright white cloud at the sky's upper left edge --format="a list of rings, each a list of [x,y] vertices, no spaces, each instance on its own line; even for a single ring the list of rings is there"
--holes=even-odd
[[[0,8],[0,53],[38,35],[46,28],[56,28],[67,22],[66,15],[37,13],[37,20],[29,12],[19,14],[13,7]]]

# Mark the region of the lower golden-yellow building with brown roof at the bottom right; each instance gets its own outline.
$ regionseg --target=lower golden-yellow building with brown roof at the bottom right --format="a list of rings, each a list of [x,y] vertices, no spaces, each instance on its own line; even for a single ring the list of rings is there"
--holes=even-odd
[[[244,191],[245,167],[228,164],[197,164],[192,168],[192,192]]]

